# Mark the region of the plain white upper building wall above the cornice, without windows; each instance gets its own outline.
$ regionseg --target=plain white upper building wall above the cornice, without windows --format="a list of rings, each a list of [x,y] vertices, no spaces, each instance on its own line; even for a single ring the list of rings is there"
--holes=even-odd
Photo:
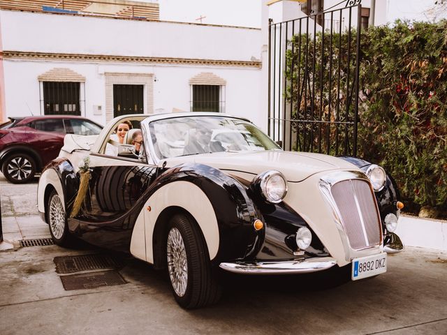
[[[3,50],[261,59],[260,29],[1,11]]]

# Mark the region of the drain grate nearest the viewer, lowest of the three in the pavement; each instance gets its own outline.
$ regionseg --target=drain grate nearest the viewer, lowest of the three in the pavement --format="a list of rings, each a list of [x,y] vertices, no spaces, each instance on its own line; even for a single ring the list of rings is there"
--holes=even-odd
[[[103,286],[123,285],[127,282],[117,271],[98,271],[88,274],[68,274],[61,276],[66,291],[85,288],[101,288]]]

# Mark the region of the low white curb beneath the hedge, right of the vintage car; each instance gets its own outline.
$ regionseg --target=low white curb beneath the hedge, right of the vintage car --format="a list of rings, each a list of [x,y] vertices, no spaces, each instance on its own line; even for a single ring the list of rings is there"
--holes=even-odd
[[[402,214],[395,233],[405,246],[447,251],[447,221]]]

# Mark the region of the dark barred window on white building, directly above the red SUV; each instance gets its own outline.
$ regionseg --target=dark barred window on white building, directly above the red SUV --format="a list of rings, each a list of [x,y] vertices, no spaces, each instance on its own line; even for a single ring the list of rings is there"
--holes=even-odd
[[[80,115],[79,82],[43,82],[45,115]]]

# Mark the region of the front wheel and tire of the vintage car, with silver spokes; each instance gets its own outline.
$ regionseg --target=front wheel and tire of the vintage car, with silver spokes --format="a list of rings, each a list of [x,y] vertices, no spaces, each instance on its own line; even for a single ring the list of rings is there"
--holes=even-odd
[[[203,234],[193,219],[183,214],[171,218],[166,236],[166,256],[171,288],[186,309],[215,304],[221,296]]]

